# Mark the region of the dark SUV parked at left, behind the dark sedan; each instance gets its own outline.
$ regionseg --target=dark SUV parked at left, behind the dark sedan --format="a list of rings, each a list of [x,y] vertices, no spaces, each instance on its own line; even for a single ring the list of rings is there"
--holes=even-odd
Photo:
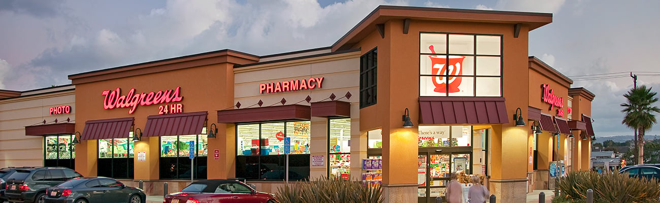
[[[82,177],[80,173],[65,167],[38,167],[16,169],[7,178],[5,196],[9,202],[44,202],[46,188]]]

